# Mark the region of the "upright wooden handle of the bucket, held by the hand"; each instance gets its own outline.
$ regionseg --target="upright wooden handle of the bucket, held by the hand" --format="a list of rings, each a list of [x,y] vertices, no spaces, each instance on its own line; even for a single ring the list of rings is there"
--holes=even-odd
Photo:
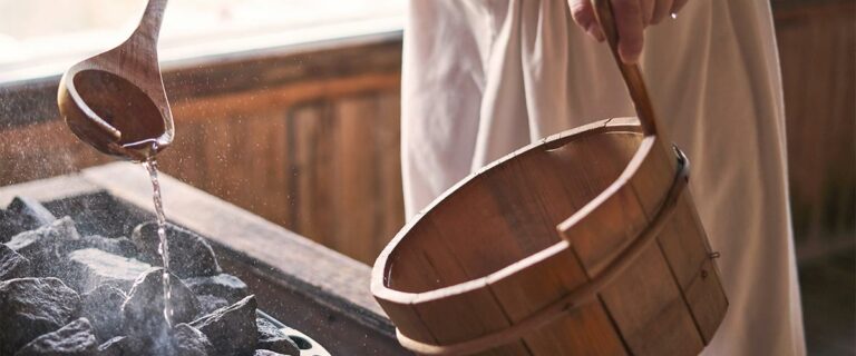
[[[642,79],[642,71],[635,63],[624,63],[621,60],[621,56],[619,56],[619,31],[612,12],[611,0],[592,0],[592,4],[597,22],[600,22],[601,29],[603,29],[603,33],[606,36],[606,41],[610,43],[612,56],[619,65],[621,76],[624,77],[624,83],[628,86],[633,106],[636,108],[636,116],[639,116],[639,121],[642,125],[642,132],[645,136],[655,136],[660,130],[654,108],[651,105],[651,98],[648,96],[645,81]]]

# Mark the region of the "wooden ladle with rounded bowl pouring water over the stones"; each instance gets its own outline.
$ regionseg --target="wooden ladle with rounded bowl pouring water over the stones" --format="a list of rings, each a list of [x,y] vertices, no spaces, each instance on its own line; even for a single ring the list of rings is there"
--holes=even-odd
[[[57,102],[66,123],[105,154],[143,161],[173,141],[173,113],[157,62],[166,2],[149,0],[125,42],[72,66],[59,82]]]

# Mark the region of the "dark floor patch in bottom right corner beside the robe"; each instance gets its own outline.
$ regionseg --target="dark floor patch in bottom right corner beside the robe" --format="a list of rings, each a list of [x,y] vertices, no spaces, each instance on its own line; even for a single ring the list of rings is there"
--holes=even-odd
[[[808,355],[856,355],[856,248],[799,263]]]

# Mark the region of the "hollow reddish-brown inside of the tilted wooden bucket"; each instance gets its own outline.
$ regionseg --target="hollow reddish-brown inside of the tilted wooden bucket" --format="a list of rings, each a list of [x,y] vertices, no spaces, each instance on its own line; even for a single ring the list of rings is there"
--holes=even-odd
[[[613,184],[643,136],[583,131],[505,159],[447,191],[390,253],[386,287],[425,293],[485,277],[558,241],[556,225]]]

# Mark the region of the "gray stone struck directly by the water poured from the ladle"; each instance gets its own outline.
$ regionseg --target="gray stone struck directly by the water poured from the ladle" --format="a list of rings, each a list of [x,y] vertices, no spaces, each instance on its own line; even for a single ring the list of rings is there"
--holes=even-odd
[[[124,330],[144,338],[163,337],[168,324],[164,318],[163,268],[152,268],[134,283],[128,299],[121,306]],[[196,296],[176,276],[171,275],[173,324],[192,320],[200,309]]]

